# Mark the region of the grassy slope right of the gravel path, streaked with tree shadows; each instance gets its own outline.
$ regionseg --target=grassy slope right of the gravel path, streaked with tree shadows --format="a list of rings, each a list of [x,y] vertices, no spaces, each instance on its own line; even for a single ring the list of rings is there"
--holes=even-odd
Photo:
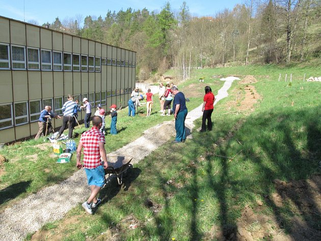
[[[235,101],[232,90],[244,91],[234,82],[229,91],[234,94],[215,107],[211,132],[193,132],[184,144],[162,146],[135,165],[123,188],[114,182],[104,189],[95,215],[87,215],[79,204],[41,232],[63,240],[93,240],[107,230],[118,233],[119,240],[208,240],[218,230],[234,230],[241,210],[261,201],[262,212],[278,220],[276,232],[291,233],[290,219],[301,206],[277,207],[264,197],[276,192],[276,178],[305,180],[320,173],[321,87],[302,81],[304,73],[321,75],[319,71],[273,65],[197,70],[195,79],[205,76],[209,84],[213,75],[254,75],[258,82],[253,86],[261,95],[255,111],[226,114],[237,110],[238,103],[229,109]],[[279,73],[292,73],[292,83],[278,82]],[[195,128],[200,124],[198,120]],[[320,229],[318,213],[302,213],[298,218]],[[130,229],[134,221],[138,227]]]

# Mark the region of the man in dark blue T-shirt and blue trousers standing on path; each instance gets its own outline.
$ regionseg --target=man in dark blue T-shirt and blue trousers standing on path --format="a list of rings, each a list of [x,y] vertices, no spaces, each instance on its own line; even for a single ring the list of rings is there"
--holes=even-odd
[[[177,87],[172,87],[174,97],[174,117],[175,117],[175,130],[176,138],[174,143],[185,142],[185,119],[188,114],[186,108],[185,96],[182,92],[179,92]]]

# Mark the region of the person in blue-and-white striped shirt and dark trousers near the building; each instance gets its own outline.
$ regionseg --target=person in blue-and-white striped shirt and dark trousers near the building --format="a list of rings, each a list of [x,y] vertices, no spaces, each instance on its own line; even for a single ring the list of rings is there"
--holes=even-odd
[[[64,132],[64,130],[67,127],[67,123],[68,124],[68,139],[72,138],[72,131],[73,131],[73,127],[74,127],[74,122],[75,122],[75,118],[74,118],[74,113],[75,110],[77,110],[77,104],[75,102],[73,102],[73,95],[68,95],[68,101],[66,101],[61,109],[64,113],[63,116],[63,124],[59,130],[58,136],[56,137],[56,140],[59,139],[59,137],[61,136],[61,134]]]

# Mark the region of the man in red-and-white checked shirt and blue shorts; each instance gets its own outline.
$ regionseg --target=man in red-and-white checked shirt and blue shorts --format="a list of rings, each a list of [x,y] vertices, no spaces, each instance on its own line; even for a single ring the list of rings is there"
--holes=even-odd
[[[104,168],[108,168],[106,150],[104,147],[105,136],[99,131],[102,119],[100,116],[94,116],[93,127],[83,133],[77,147],[77,168],[82,168],[81,155],[84,148],[84,168],[87,175],[88,184],[91,188],[91,194],[86,202],[82,204],[83,208],[92,214],[92,208],[97,207],[101,199],[97,195],[104,185]],[[101,159],[104,161],[103,166]]]

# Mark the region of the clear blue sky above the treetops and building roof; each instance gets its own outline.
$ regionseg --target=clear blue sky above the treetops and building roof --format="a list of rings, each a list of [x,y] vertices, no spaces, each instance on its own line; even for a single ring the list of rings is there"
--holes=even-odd
[[[61,21],[65,18],[82,15],[83,19],[88,16],[105,17],[108,10],[116,11],[131,7],[138,10],[146,7],[149,11],[160,10],[166,0],[0,0],[0,15],[20,21],[35,20],[39,24],[53,22],[56,17]],[[170,0],[172,10],[179,10],[183,0]],[[192,15],[213,16],[217,12],[228,8],[232,9],[243,0],[185,0]]]

